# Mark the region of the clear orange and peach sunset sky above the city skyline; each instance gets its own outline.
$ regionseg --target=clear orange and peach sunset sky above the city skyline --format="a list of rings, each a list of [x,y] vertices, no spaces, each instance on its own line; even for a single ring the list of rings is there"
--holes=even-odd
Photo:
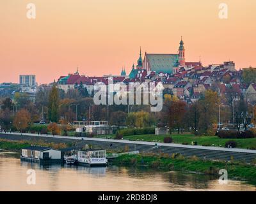
[[[77,66],[88,76],[129,73],[140,46],[143,55],[176,54],[180,36],[186,61],[255,67],[255,9],[255,0],[1,0],[0,83],[24,74],[49,83]]]

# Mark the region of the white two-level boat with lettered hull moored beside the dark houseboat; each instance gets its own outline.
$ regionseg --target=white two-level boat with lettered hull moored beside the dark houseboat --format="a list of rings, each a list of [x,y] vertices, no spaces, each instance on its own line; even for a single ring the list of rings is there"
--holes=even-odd
[[[90,166],[106,166],[106,150],[77,151],[77,162]]]

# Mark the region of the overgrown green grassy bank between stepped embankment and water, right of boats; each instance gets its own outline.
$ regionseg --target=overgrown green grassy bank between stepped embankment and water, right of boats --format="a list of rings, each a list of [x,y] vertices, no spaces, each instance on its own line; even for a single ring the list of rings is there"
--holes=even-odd
[[[246,180],[256,186],[255,164],[245,164],[236,161],[209,161],[197,157],[185,158],[179,154],[137,154],[124,155],[115,158],[112,164],[117,166],[132,166],[134,168],[152,168],[163,171],[186,171],[203,173],[220,177],[219,171],[225,169],[228,179]]]

